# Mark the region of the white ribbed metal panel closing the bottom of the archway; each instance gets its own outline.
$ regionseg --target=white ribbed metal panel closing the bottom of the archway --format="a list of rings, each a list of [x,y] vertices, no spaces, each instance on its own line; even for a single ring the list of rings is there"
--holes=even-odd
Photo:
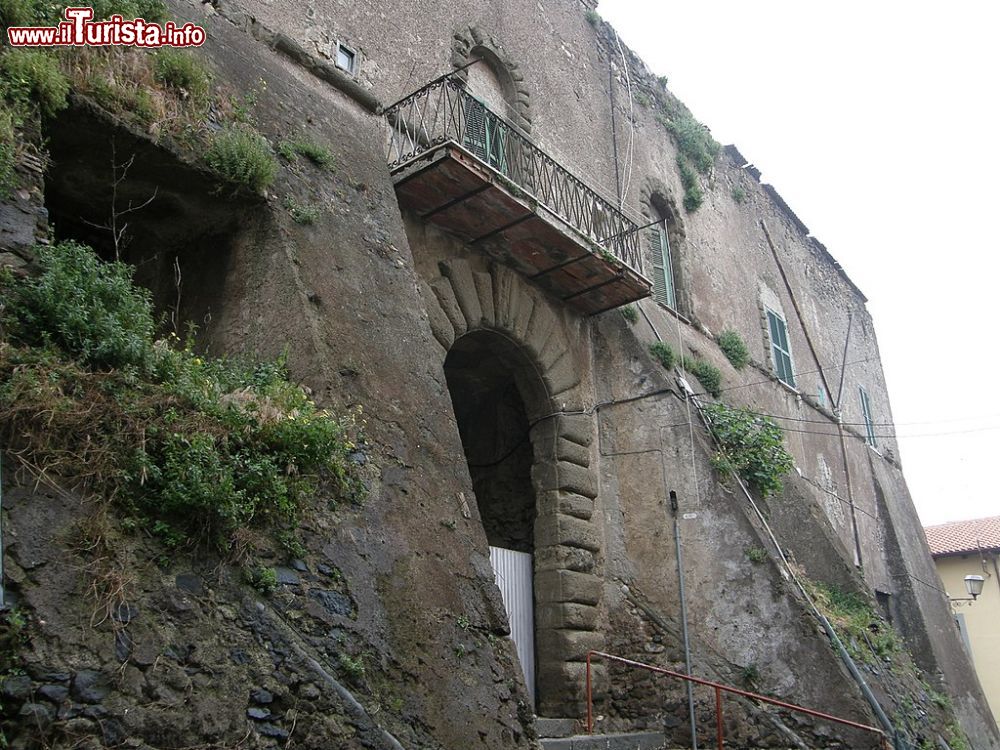
[[[532,586],[532,556],[503,547],[490,547],[490,562],[503,598],[510,637],[524,671],[531,704],[535,704],[535,605]]]

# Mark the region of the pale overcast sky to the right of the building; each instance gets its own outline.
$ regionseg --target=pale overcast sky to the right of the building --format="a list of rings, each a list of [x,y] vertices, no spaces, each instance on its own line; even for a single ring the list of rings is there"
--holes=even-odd
[[[1000,4],[598,11],[868,296],[921,520],[1000,514]]]

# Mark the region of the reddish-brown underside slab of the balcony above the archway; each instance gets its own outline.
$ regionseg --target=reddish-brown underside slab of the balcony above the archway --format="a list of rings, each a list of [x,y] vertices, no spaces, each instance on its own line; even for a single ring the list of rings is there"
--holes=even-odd
[[[454,143],[393,173],[401,206],[527,276],[585,315],[648,297],[648,279],[601,254],[518,187]]]

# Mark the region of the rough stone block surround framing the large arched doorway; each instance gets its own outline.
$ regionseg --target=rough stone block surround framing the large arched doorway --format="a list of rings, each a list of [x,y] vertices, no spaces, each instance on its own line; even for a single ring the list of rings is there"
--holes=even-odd
[[[478,270],[453,258],[421,283],[442,365],[452,345],[488,330],[518,345],[540,379],[540,399],[526,403],[534,452],[535,623],[539,715],[572,715],[583,699],[587,651],[602,649],[603,535],[595,516],[596,429],[584,413],[580,373],[587,366],[543,292],[512,269]],[[544,412],[544,413],[543,413]]]

